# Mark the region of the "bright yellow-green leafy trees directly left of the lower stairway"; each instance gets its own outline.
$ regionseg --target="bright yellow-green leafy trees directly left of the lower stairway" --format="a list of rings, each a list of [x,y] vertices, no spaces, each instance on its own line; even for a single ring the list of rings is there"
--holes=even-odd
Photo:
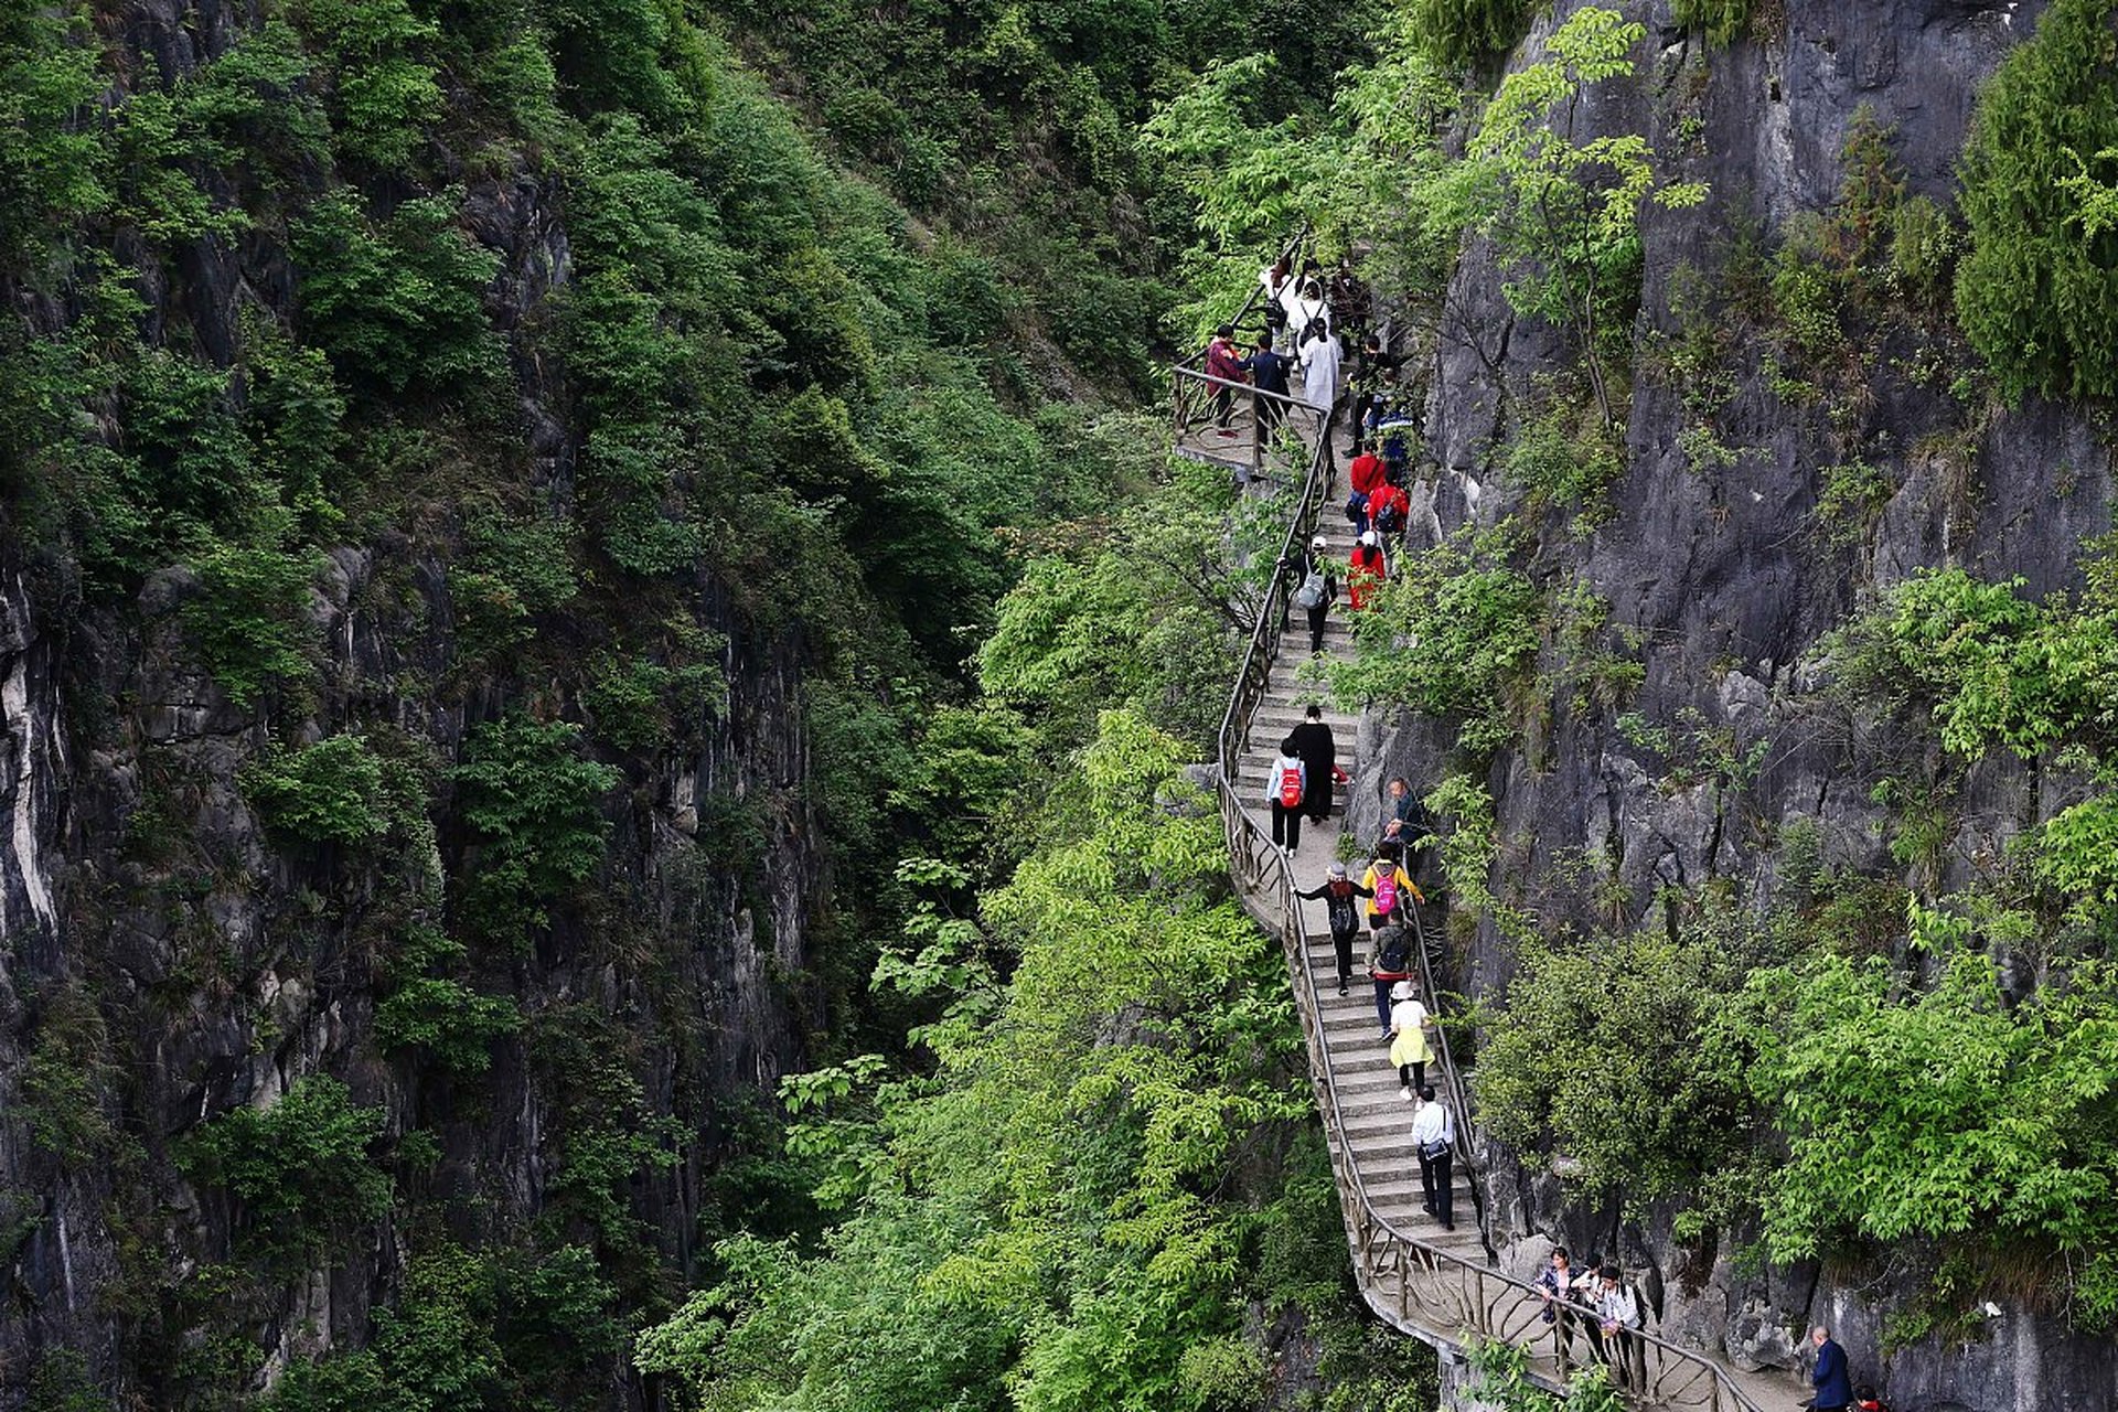
[[[1226,893],[1220,819],[1184,756],[1135,716],[1101,718],[1042,847],[955,942],[951,1006],[926,1031],[936,1075],[790,1082],[794,1137],[841,1173],[847,1219],[813,1255],[724,1247],[733,1279],[644,1336],[642,1368],[701,1408],[1258,1395],[1243,1304],[1313,1287],[1288,1228],[1334,1217],[1313,1179],[1260,1188],[1239,1160],[1322,1154],[1296,1126],[1279,957]],[[1320,1247],[1336,1264],[1334,1232]]]

